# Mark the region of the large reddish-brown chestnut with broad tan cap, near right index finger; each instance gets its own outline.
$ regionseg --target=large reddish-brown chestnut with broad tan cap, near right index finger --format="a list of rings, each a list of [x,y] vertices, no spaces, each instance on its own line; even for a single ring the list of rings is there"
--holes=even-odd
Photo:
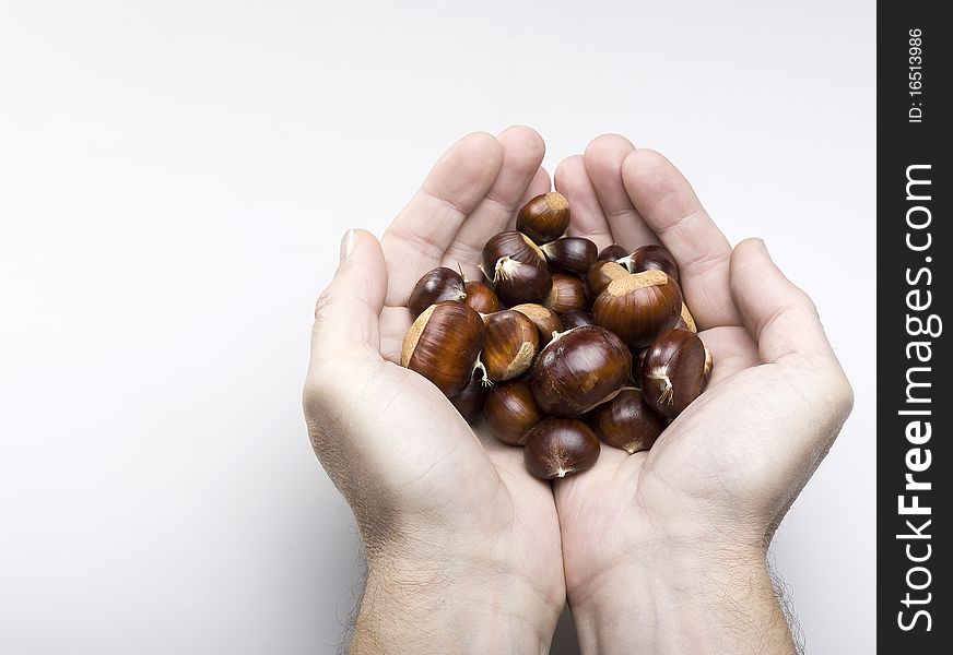
[[[679,285],[662,271],[645,271],[613,279],[592,303],[592,319],[637,350],[673,329],[681,310]]]

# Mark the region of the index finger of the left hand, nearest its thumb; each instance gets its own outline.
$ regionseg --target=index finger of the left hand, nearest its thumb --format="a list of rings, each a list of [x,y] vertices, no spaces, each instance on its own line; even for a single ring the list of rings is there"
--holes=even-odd
[[[493,187],[502,164],[503,146],[496,138],[474,132],[434,165],[381,239],[389,274],[387,305],[407,305],[416,281],[439,265],[466,217]]]

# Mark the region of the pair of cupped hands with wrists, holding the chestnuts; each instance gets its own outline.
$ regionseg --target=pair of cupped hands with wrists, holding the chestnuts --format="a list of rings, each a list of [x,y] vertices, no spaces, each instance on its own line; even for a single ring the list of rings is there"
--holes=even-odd
[[[715,369],[652,449],[552,484],[399,365],[426,271],[481,279],[483,245],[551,189],[529,128],[464,136],[378,242],[349,231],[321,294],[304,406],[356,517],[353,653],[546,653],[568,600],[584,653],[789,653],[766,550],[852,393],[811,299],[764,243],[733,249],[662,155],[619,135],[555,170],[569,235],[662,243]]]

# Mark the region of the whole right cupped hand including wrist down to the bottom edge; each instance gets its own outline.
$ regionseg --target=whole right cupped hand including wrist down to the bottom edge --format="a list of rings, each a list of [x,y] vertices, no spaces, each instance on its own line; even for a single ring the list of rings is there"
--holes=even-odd
[[[793,652],[765,552],[852,404],[813,303],[761,241],[732,251],[658,153],[601,136],[555,186],[575,234],[672,252],[715,359],[651,451],[603,448],[555,486],[584,652]]]

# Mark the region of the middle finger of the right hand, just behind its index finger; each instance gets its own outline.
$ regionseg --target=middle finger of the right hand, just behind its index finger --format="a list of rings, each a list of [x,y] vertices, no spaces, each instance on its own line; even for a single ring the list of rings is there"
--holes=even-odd
[[[622,163],[635,150],[632,142],[619,134],[603,134],[586,147],[586,172],[592,180],[602,213],[616,243],[635,250],[658,239],[632,204],[622,181]]]

